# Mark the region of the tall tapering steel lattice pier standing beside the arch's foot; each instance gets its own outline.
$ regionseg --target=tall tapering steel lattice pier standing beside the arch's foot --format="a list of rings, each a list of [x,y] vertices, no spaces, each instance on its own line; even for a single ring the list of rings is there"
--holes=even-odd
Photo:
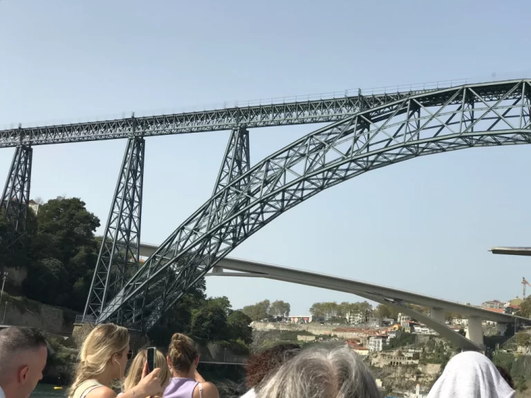
[[[95,321],[104,305],[138,271],[145,140],[132,136],[127,146],[97,256],[84,321]],[[136,303],[135,303],[136,304]],[[124,309],[125,310],[125,309]]]

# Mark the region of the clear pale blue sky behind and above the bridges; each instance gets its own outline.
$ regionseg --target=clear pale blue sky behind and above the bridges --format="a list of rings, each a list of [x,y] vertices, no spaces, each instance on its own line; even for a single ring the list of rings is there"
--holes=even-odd
[[[0,1],[0,125],[444,79],[531,76],[529,1]],[[251,131],[252,162],[316,126]],[[147,140],[142,240],[160,243],[212,192],[227,132]],[[77,196],[106,220],[125,142],[36,146],[32,197]],[[0,179],[12,149],[0,150]],[[457,301],[521,295],[531,146],[371,171],[304,202],[232,256]],[[2,182],[3,184],[3,182]],[[97,231],[101,234],[102,227]],[[209,279],[234,307],[292,314],[355,296]]]

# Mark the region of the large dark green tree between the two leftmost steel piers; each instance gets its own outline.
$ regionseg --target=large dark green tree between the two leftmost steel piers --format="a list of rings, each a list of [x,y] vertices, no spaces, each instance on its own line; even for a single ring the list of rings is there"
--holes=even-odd
[[[36,225],[24,293],[30,299],[82,311],[97,260],[94,231],[100,220],[79,198],[58,197],[39,208]],[[39,288],[43,283],[50,283],[48,292]],[[52,289],[55,294],[50,294]]]

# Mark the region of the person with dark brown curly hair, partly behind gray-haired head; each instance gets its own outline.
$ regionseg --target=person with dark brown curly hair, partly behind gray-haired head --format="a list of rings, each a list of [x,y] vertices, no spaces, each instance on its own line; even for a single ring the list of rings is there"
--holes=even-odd
[[[295,357],[301,350],[298,344],[279,344],[269,350],[253,354],[245,366],[247,377],[245,384],[250,390],[241,398],[254,398],[259,384],[268,375],[272,375],[280,366]]]

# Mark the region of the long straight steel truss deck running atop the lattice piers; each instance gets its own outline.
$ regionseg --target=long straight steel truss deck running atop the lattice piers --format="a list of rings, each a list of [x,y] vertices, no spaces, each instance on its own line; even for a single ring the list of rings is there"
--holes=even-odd
[[[20,142],[31,145],[59,144],[128,138],[133,127],[144,137],[203,131],[225,131],[239,126],[254,127],[288,126],[292,124],[326,123],[342,120],[360,111],[361,107],[376,107],[394,102],[409,95],[430,90],[410,90],[380,95],[361,95],[225,108],[214,111],[175,113],[149,117],[136,117],[101,122],[62,124],[55,126],[27,127],[0,131],[0,148],[17,146]],[[433,91],[433,90],[431,90]]]

